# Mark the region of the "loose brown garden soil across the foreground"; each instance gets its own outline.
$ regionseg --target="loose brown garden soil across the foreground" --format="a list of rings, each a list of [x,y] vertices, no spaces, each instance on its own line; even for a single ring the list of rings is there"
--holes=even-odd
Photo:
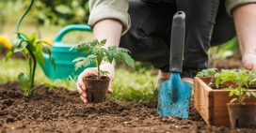
[[[193,103],[193,101],[191,101]],[[78,93],[40,86],[26,98],[15,82],[0,85],[0,132],[229,132],[207,126],[191,104],[189,119],[156,115],[157,102],[84,105]],[[255,132],[235,129],[234,132]]]

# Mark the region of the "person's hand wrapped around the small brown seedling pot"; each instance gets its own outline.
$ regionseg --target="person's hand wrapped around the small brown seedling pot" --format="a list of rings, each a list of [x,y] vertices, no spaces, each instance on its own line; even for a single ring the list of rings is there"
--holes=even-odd
[[[112,81],[114,78],[114,65],[104,63],[101,66],[101,69],[104,71],[108,71],[109,74],[107,75],[110,78],[110,83],[107,89],[107,93],[112,94]],[[81,99],[85,104],[88,104],[88,96],[87,96],[87,87],[83,79],[89,75],[97,75],[97,68],[96,67],[88,67],[86,68],[79,76],[76,82],[76,89],[77,92],[80,94]]]

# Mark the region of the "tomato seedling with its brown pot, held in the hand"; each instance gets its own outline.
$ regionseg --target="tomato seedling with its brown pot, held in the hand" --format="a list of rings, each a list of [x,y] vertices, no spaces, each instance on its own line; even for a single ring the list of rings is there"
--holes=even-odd
[[[75,69],[79,67],[87,67],[95,65],[97,67],[97,75],[90,75],[84,79],[88,89],[88,102],[103,102],[106,99],[106,90],[109,86],[110,79],[107,77],[108,71],[101,69],[101,64],[113,61],[123,61],[128,66],[134,67],[134,59],[129,55],[129,51],[117,46],[104,47],[106,39],[99,41],[98,39],[80,42],[72,47],[77,52],[86,52],[84,57],[78,57],[73,60]]]

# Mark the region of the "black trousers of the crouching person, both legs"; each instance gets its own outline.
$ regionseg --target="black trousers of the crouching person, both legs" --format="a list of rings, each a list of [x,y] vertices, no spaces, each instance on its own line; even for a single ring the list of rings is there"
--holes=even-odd
[[[225,11],[224,1],[220,5],[216,16],[218,0],[177,1],[178,9],[186,12],[183,77],[194,77],[200,69],[207,67],[213,30],[213,43],[227,41],[234,35],[232,18]],[[176,11],[174,4],[131,0],[132,27],[121,37],[120,47],[129,49],[136,60],[150,62],[168,71],[170,26]]]

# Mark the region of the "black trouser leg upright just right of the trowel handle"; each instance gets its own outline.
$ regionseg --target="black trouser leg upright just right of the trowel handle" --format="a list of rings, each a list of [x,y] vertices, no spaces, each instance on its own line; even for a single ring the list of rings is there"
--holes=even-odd
[[[183,77],[194,77],[207,68],[210,40],[215,25],[218,0],[176,0],[178,10],[186,13]]]

